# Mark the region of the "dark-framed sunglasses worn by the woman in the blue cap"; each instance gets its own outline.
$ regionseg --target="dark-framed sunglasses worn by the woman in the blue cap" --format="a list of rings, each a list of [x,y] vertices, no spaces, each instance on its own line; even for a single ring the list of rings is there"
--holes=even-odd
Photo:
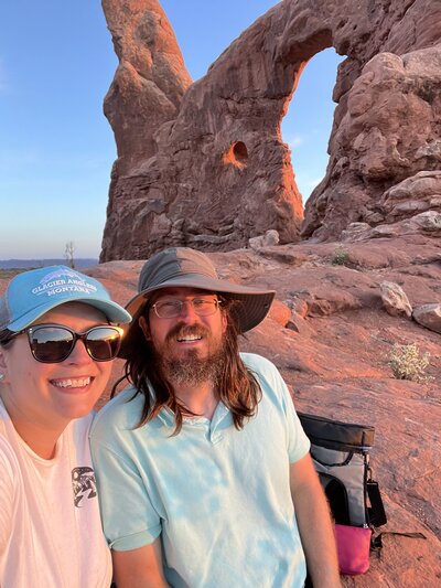
[[[83,341],[93,360],[108,362],[118,354],[122,332],[122,329],[112,325],[93,327],[84,333],[77,333],[58,324],[37,324],[29,327],[13,336],[28,333],[32,355],[37,362],[64,362],[73,352],[78,340]]]

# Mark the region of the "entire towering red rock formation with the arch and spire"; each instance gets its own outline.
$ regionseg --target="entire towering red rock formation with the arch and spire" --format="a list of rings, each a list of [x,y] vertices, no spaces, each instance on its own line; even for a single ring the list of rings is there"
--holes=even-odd
[[[101,260],[169,245],[229,250],[268,229],[283,244],[340,238],[363,223],[368,238],[378,225],[441,210],[439,2],[284,0],[190,86],[159,2],[103,6],[120,65],[105,106],[118,160]],[[303,222],[280,124],[308,61],[330,46],[347,58],[329,168]],[[409,197],[397,201],[402,181]]]

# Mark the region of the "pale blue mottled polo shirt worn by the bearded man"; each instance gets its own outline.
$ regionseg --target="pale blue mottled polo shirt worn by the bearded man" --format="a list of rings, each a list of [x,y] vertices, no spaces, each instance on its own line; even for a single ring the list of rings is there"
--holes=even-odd
[[[175,588],[301,587],[304,555],[289,464],[310,448],[272,363],[243,354],[262,399],[241,430],[219,404],[212,420],[184,420],[173,436],[169,409],[136,428],[143,397],[128,388],[98,414],[92,431],[104,527],[127,550],[162,539]]]

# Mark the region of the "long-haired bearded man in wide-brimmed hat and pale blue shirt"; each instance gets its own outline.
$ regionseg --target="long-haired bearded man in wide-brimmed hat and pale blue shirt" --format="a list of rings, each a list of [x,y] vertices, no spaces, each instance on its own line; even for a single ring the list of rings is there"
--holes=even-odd
[[[125,340],[133,384],[93,456],[118,588],[341,586],[327,503],[276,367],[238,353],[275,292],[190,248],[143,267]],[[300,536],[299,536],[300,533]]]

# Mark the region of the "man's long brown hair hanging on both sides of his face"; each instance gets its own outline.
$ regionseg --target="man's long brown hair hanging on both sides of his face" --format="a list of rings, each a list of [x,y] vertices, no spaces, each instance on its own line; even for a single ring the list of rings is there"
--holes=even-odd
[[[229,409],[237,429],[244,427],[246,418],[257,413],[261,398],[261,389],[256,377],[247,368],[239,355],[237,323],[230,309],[234,301],[222,301],[220,311],[226,314],[227,329],[225,332],[225,361],[215,385],[217,398]],[[144,316],[148,316],[146,307]],[[115,396],[119,383],[127,378],[133,384],[136,392],[144,397],[141,418],[138,427],[152,420],[162,408],[169,407],[174,413],[175,430],[178,435],[182,428],[183,417],[195,416],[176,397],[173,386],[163,377],[154,356],[154,350],[135,320],[128,338],[123,343],[123,354],[127,359],[125,376],[119,379],[112,391]]]

